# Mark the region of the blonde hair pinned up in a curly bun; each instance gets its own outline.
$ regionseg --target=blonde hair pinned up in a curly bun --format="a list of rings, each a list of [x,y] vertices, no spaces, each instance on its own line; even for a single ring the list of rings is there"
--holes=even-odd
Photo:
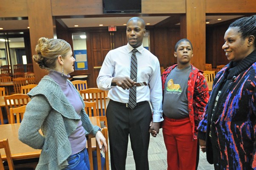
[[[70,50],[71,46],[65,40],[41,37],[36,45],[37,54],[33,55],[33,60],[42,69],[54,69],[58,56],[65,57]]]

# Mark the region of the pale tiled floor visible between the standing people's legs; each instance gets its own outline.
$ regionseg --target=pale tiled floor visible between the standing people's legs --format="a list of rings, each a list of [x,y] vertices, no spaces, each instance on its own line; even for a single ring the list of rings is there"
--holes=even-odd
[[[150,170],[166,170],[167,169],[166,149],[165,149],[164,139],[162,136],[162,129],[160,130],[160,133],[156,136],[156,138],[151,136],[149,149],[148,149],[148,160],[149,160]],[[134,163],[130,142],[128,144],[125,170],[135,170],[135,163]],[[213,165],[209,164],[206,161],[206,154],[202,153],[202,151],[200,151],[200,155],[199,155],[198,170],[214,170]]]

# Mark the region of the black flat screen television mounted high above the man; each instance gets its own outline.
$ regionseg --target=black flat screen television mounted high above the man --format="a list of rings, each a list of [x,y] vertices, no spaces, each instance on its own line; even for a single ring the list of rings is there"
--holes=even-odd
[[[102,0],[103,14],[141,13],[141,0]]]

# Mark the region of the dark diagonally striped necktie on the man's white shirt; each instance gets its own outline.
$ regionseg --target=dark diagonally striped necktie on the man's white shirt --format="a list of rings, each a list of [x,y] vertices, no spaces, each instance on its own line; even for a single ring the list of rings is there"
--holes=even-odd
[[[130,79],[135,79],[137,77],[137,58],[135,53],[137,52],[137,49],[132,50],[132,55],[131,55],[131,76]],[[136,101],[136,87],[130,88],[129,92],[129,102],[128,106],[129,108],[133,109],[137,105]]]

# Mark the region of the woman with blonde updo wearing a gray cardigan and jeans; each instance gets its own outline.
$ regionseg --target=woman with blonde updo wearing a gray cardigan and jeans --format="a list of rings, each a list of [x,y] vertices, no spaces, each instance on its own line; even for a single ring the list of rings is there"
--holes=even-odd
[[[71,46],[65,40],[41,37],[35,51],[33,60],[49,74],[28,93],[31,101],[26,106],[19,139],[42,150],[37,170],[90,170],[85,135],[94,134],[103,152],[107,144],[100,127],[91,124],[82,97],[68,80],[75,62]]]

